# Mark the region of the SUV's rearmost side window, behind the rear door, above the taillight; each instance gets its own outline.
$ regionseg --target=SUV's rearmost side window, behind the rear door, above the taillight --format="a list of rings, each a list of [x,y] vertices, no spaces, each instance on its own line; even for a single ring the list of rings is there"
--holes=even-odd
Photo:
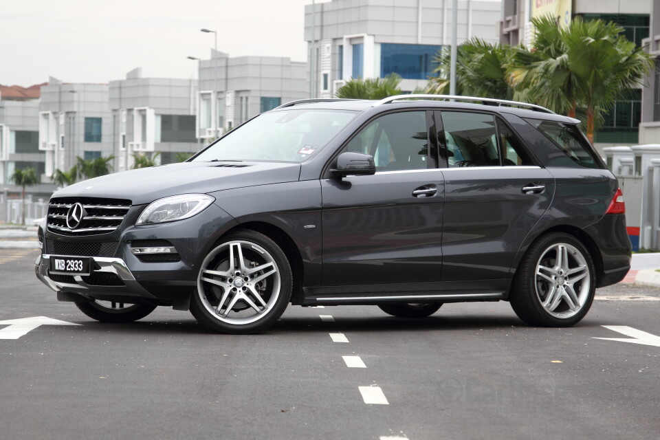
[[[572,162],[586,168],[602,168],[600,161],[595,158],[593,148],[575,124],[538,119],[525,120],[558,146],[566,157],[571,159],[570,162],[564,162],[566,165],[570,165]]]

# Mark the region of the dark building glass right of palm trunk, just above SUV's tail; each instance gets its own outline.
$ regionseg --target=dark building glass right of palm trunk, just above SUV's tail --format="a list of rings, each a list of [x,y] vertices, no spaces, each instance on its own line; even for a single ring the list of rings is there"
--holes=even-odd
[[[637,144],[641,121],[641,89],[617,100],[604,115],[605,122],[593,135],[593,142]]]

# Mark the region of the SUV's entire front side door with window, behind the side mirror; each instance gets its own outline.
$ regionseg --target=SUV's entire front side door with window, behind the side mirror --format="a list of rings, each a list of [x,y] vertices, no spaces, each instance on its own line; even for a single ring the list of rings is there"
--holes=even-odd
[[[434,112],[399,111],[344,147],[373,155],[374,175],[322,179],[325,286],[439,282],[444,183]]]

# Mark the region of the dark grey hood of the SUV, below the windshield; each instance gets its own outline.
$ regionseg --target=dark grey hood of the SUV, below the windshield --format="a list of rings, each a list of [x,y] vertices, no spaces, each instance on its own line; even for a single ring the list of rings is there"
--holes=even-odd
[[[182,162],[124,171],[67,186],[53,197],[130,199],[133,205],[192,192],[297,181],[300,164],[278,162]]]

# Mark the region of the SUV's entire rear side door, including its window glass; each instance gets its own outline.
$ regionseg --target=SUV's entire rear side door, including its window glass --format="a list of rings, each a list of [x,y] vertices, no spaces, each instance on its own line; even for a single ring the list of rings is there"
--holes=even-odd
[[[442,111],[443,281],[507,278],[555,183],[492,113]],[[440,122],[439,122],[440,123]]]

